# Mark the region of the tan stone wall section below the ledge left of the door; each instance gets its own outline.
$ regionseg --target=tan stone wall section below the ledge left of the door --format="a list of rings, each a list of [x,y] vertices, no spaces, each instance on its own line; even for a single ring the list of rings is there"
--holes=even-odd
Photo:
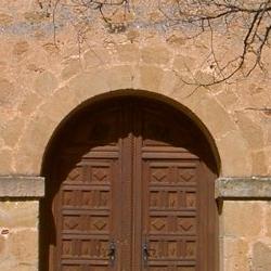
[[[0,201],[0,270],[38,270],[38,201]]]

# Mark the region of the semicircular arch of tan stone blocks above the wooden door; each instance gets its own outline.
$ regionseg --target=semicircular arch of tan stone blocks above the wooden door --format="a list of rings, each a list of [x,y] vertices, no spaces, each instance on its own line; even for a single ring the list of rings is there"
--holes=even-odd
[[[171,103],[189,115],[217,153],[220,176],[249,175],[251,157],[240,128],[206,89],[198,88],[193,94],[191,91],[191,86],[180,86],[176,73],[155,65],[118,64],[81,72],[37,106],[21,136],[15,154],[20,159],[14,162],[13,168],[25,175],[40,175],[52,134],[73,111],[96,99],[132,94]]]

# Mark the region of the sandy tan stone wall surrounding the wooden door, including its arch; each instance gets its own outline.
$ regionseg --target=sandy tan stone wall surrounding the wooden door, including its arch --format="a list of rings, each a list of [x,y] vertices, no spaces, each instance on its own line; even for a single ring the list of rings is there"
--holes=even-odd
[[[126,94],[151,95],[189,114],[217,147],[221,177],[271,175],[271,116],[262,111],[271,104],[270,49],[263,51],[266,73],[195,87],[185,79],[208,82],[212,75],[208,35],[191,40],[144,24],[114,33],[98,18],[80,40],[82,28],[63,11],[55,36],[39,2],[0,3],[0,175],[39,176],[47,144],[72,111]],[[220,54],[238,50],[235,39],[220,36]],[[221,270],[268,271],[270,216],[267,201],[223,203]],[[37,270],[37,199],[0,203],[1,270]]]

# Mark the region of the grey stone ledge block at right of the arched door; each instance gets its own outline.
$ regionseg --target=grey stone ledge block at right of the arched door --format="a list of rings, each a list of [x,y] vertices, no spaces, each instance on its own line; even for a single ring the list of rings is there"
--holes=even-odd
[[[271,177],[218,178],[216,198],[271,199]]]

